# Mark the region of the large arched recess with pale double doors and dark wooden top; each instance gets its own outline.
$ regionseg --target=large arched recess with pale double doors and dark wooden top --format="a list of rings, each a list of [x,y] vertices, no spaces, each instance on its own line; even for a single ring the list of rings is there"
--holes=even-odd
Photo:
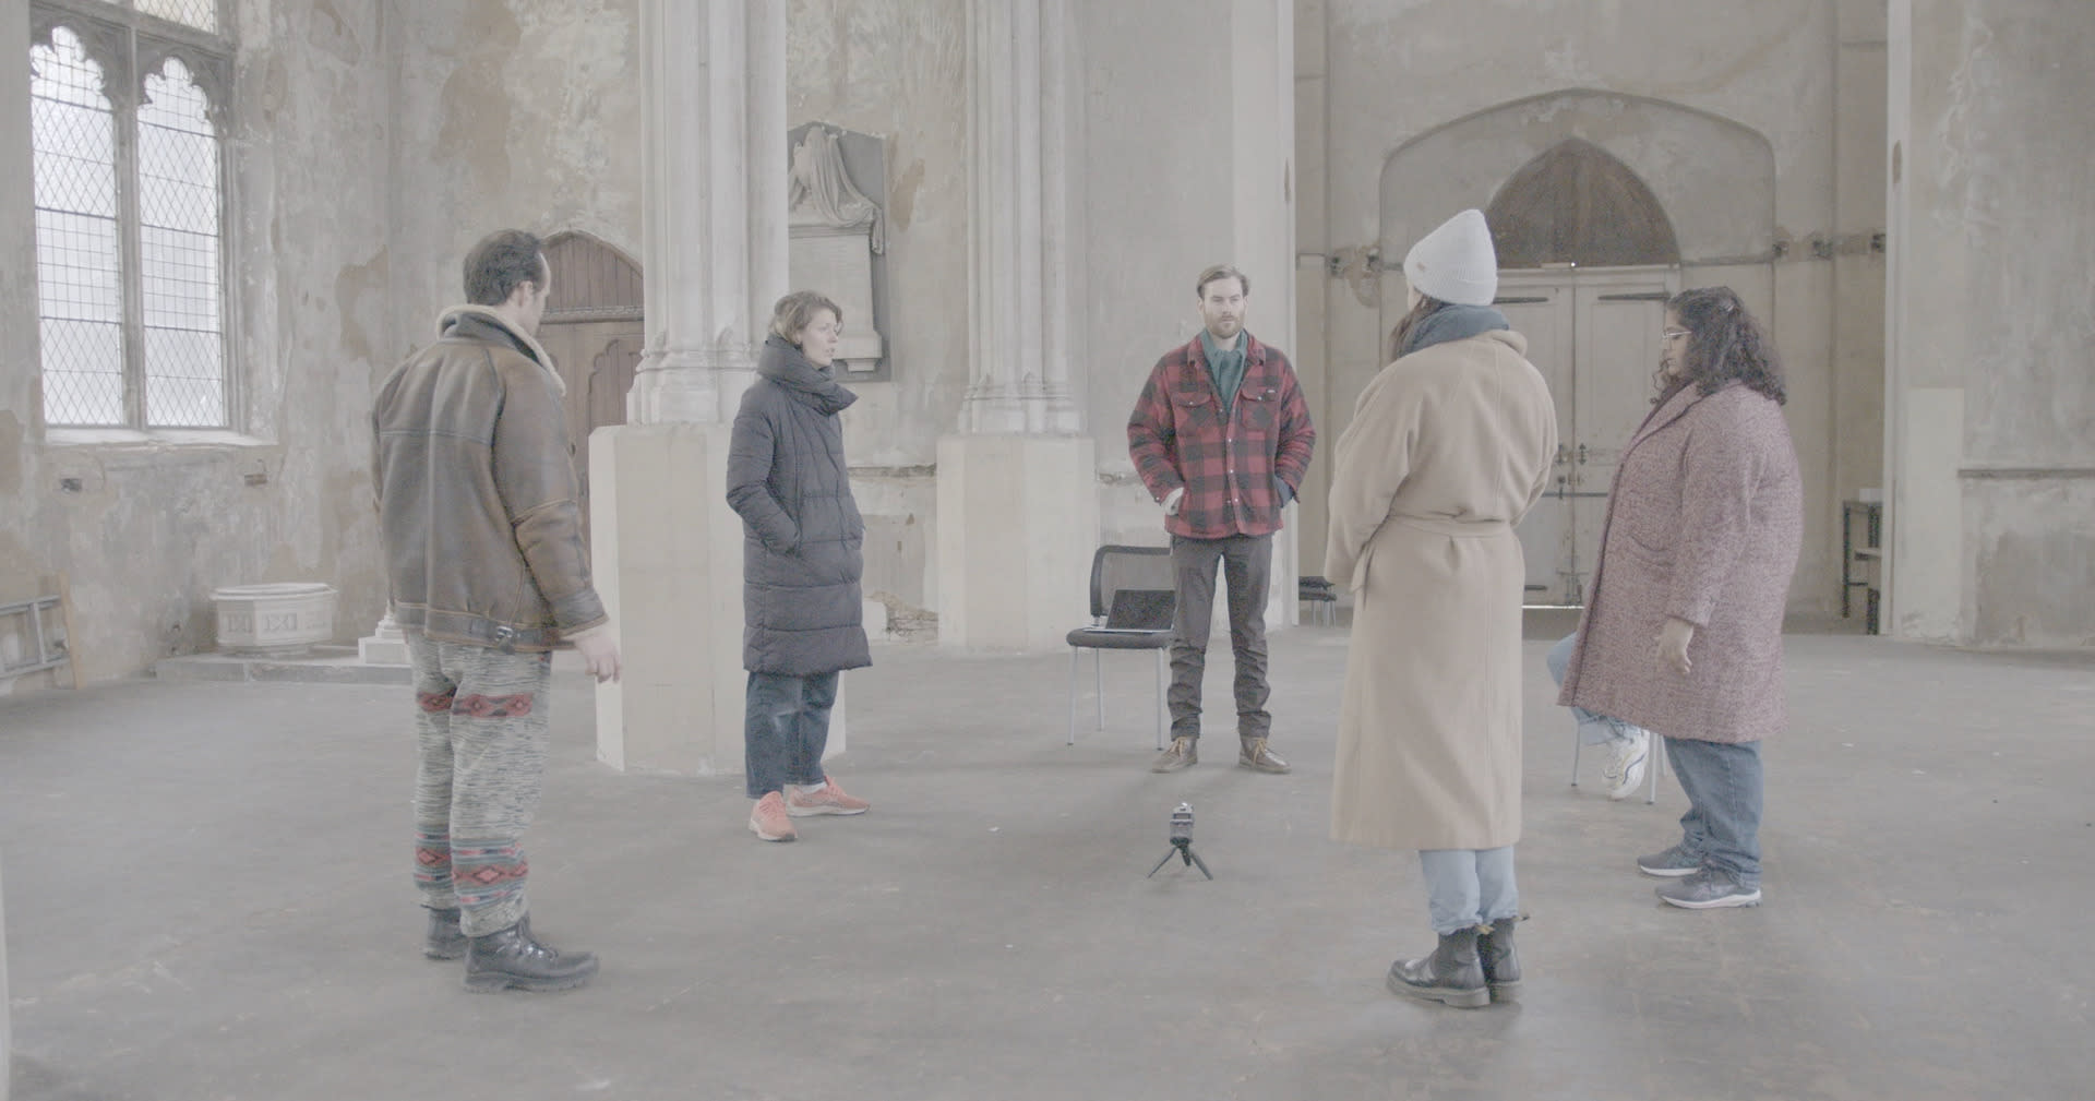
[[[1730,283],[1770,316],[1774,149],[1737,121],[1613,92],[1490,107],[1383,163],[1381,268],[1399,270],[1412,241],[1467,207],[1492,211],[1498,306],[1557,400],[1559,492],[1519,525],[1527,599],[1580,605],[1622,444],[1649,412],[1661,304]],[[1379,295],[1387,333],[1404,278],[1381,278]]]

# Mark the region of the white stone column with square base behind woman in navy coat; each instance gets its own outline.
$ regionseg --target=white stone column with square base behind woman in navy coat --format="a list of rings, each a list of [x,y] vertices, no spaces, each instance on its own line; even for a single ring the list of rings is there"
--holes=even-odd
[[[742,768],[742,521],[727,437],[786,293],[786,6],[641,0],[647,354],[631,425],[589,440],[597,588],[624,682],[597,756]],[[836,739],[832,739],[834,745]]]

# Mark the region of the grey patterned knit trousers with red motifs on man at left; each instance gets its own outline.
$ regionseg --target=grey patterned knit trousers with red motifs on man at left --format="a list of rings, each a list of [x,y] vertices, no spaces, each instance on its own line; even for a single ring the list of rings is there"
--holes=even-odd
[[[406,632],[415,668],[415,885],[461,911],[465,936],[528,913],[520,837],[538,810],[553,655],[432,643]]]

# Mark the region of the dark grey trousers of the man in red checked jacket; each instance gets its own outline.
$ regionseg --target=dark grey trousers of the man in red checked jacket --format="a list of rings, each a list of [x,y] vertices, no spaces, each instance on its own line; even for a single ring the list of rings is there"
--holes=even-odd
[[[1265,590],[1274,580],[1274,536],[1194,540],[1171,536],[1177,613],[1171,620],[1171,737],[1200,737],[1200,678],[1215,609],[1215,565],[1230,586],[1230,649],[1236,655],[1236,733],[1267,737]]]

